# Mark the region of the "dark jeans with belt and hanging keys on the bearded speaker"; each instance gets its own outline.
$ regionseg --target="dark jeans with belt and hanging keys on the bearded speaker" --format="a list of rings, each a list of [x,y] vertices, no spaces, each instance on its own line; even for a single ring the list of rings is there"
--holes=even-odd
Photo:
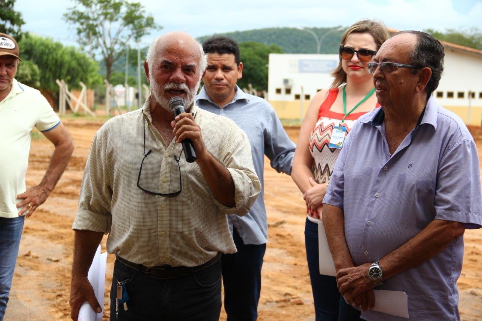
[[[119,303],[117,282],[129,295],[127,311]],[[221,314],[221,260],[200,270],[171,279],[155,279],[115,261],[110,290],[110,320],[218,321]]]

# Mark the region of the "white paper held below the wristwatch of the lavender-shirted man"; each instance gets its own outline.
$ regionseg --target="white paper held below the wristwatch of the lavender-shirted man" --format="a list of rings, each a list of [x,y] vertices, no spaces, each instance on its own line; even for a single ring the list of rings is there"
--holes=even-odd
[[[373,290],[375,306],[373,311],[408,319],[408,295],[400,291]]]

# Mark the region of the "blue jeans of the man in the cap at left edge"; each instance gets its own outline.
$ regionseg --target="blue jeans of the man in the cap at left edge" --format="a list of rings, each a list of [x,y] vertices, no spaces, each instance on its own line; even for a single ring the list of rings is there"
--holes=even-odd
[[[24,220],[25,216],[0,218],[0,321],[9,301]]]

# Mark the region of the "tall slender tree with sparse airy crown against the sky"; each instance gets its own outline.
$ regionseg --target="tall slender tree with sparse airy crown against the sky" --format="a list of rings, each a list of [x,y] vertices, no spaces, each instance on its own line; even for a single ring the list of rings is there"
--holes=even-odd
[[[78,41],[84,48],[100,51],[110,81],[112,66],[130,39],[138,40],[150,29],[160,29],[152,15],[137,2],[126,0],[75,0],[64,20],[76,26]]]

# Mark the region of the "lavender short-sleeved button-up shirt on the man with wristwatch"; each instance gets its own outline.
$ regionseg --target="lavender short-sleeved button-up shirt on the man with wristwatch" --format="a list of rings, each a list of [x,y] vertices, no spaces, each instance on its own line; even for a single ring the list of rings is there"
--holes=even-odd
[[[383,106],[382,106],[383,108]],[[430,97],[417,126],[390,156],[378,108],[348,135],[323,203],[342,208],[353,262],[380,260],[433,220],[482,225],[477,147],[463,121]],[[410,319],[459,320],[457,279],[463,236],[429,261],[377,290],[404,291]],[[365,320],[406,320],[367,310]]]

